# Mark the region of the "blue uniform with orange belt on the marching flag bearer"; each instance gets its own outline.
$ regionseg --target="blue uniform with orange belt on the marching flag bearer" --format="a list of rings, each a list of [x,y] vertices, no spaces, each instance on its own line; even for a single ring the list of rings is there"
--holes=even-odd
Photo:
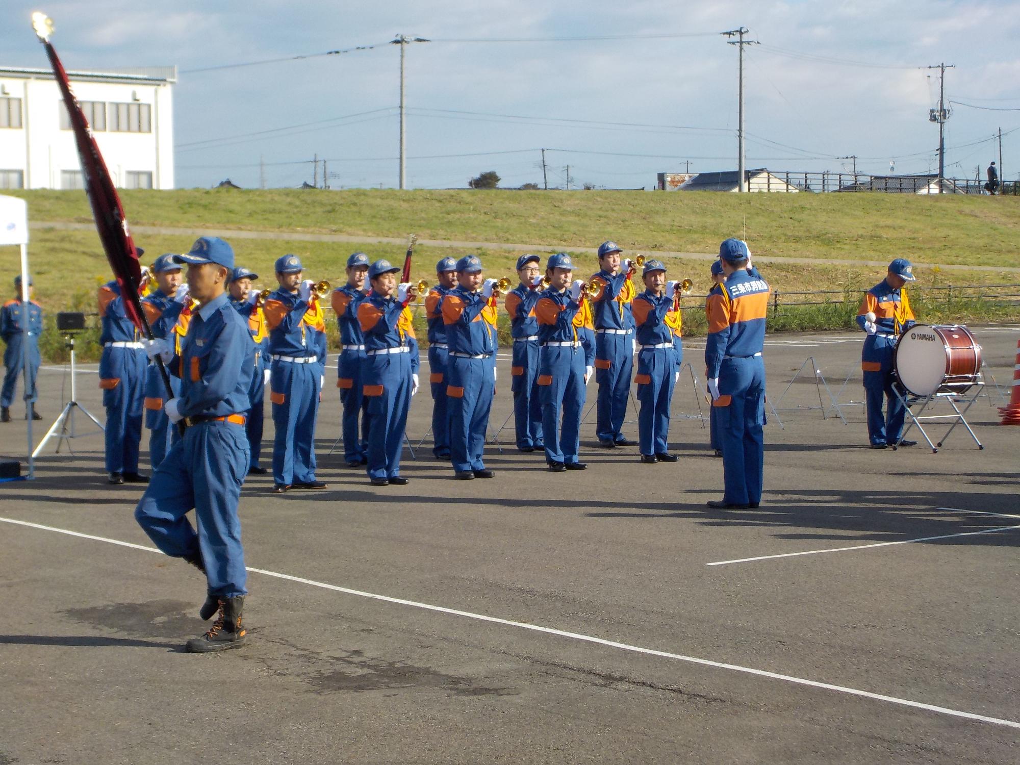
[[[255,369],[248,326],[226,295],[192,317],[180,355],[170,361],[181,379],[185,430],[135,508],[135,518],[166,555],[194,560],[201,552],[210,596],[245,595],[238,501],[248,472],[243,412]],[[186,513],[195,509],[198,532]]]

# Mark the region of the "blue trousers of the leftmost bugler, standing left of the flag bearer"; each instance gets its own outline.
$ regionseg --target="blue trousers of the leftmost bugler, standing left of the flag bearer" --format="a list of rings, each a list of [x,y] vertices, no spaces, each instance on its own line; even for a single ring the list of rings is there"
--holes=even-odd
[[[104,348],[99,385],[106,407],[106,472],[138,472],[148,359],[137,348]]]

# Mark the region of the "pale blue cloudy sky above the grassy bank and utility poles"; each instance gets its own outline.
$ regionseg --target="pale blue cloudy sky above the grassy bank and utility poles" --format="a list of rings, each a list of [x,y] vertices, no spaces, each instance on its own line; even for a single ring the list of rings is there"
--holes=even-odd
[[[736,169],[737,50],[719,33],[742,26],[760,43],[749,168],[936,170],[926,67],[945,62],[946,174],[983,177],[1002,129],[1004,177],[1020,177],[1016,0],[6,0],[0,65],[46,66],[40,9],[68,69],[178,67],[178,187],[300,186],[315,156],[332,188],[396,187],[401,34],[430,41],[406,48],[408,188],[486,170],[541,186],[543,148],[550,188]],[[309,55],[330,50],[350,52]],[[294,56],[309,57],[234,66]]]

